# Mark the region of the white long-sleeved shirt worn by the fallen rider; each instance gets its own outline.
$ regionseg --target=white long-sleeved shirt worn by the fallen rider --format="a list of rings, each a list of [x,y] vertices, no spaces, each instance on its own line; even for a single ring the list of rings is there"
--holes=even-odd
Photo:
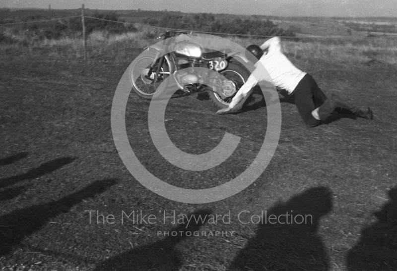
[[[274,37],[265,41],[265,43],[260,47],[262,50],[267,49],[267,53],[265,53],[259,61],[265,67],[268,74],[259,72],[259,69],[256,68],[248,78],[247,82],[237,92],[236,96],[230,103],[229,108],[234,108],[258,83],[258,81],[268,81],[277,88],[284,89],[291,94],[298,83],[306,75],[306,72],[295,67],[291,61],[281,53],[279,37]],[[255,64],[255,67],[258,67],[258,65],[259,62]],[[270,76],[270,78],[268,76]]]

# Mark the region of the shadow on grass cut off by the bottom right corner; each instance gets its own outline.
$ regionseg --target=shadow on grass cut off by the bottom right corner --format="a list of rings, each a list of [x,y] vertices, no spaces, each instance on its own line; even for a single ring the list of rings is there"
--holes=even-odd
[[[374,213],[378,221],[362,230],[347,254],[348,271],[397,270],[397,187],[389,191],[389,199]]]

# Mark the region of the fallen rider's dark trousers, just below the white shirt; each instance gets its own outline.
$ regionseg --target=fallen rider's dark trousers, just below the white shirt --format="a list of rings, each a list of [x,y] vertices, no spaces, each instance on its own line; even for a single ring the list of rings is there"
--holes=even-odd
[[[295,104],[306,126],[313,127],[321,123],[313,117],[312,111],[327,100],[327,96],[317,86],[310,74],[306,74],[296,86],[292,94],[295,96]]]

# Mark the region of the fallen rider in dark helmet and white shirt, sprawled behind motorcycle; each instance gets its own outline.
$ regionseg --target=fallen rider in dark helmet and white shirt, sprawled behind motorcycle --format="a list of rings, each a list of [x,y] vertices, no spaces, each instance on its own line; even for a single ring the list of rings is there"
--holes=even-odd
[[[372,110],[369,107],[352,106],[336,95],[327,98],[314,78],[309,73],[295,67],[281,52],[279,37],[271,38],[261,46],[250,45],[247,47],[247,51],[263,64],[275,87],[294,95],[296,107],[306,126],[313,127],[327,121],[337,108],[347,109],[358,117],[373,118]],[[250,58],[251,54],[247,53],[247,58],[256,61],[255,58]],[[256,67],[258,64],[256,63]],[[255,70],[234,96],[229,107],[220,109],[216,113],[225,114],[241,109],[244,98],[251,94],[254,86],[258,83],[254,73]],[[258,80],[264,80],[264,77],[265,75],[262,78],[260,75]]]

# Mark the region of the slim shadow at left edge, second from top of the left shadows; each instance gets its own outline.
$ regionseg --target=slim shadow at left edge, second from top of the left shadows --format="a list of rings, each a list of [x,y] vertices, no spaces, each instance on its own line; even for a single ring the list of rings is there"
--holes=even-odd
[[[13,185],[13,184],[23,181],[23,180],[41,177],[45,174],[48,174],[50,172],[53,172],[53,171],[63,167],[64,165],[66,165],[68,163],[72,163],[74,160],[76,160],[76,158],[63,157],[63,158],[58,158],[58,159],[52,160],[50,162],[42,163],[38,167],[33,168],[24,174],[0,179],[0,188],[6,187],[8,185]]]

